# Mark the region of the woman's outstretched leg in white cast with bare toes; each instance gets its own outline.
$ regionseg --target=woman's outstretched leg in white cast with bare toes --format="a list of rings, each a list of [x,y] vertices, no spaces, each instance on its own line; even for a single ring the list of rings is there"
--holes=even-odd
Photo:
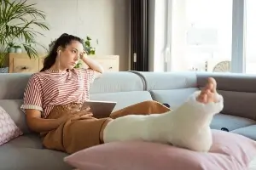
[[[212,116],[223,109],[216,86],[216,81],[209,78],[206,87],[192,94],[176,111],[114,119],[103,129],[104,142],[143,140],[207,151],[212,145]]]

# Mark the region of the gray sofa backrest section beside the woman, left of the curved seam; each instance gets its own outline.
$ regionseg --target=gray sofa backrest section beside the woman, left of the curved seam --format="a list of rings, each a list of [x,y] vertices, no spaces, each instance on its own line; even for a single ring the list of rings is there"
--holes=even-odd
[[[152,100],[141,77],[128,71],[106,72],[90,88],[90,99],[117,101],[113,111]]]

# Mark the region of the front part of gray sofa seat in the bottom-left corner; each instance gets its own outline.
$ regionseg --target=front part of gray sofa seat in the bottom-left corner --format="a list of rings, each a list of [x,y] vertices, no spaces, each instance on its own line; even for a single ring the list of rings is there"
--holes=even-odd
[[[0,167],[6,170],[71,170],[63,161],[67,154],[55,150],[0,147]]]

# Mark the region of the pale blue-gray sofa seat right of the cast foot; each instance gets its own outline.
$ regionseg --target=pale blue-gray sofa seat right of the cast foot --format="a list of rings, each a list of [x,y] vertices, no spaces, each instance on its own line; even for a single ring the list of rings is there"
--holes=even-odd
[[[224,115],[220,113],[213,117],[211,128],[220,130],[222,127],[225,127],[229,131],[233,131],[253,124],[256,124],[256,122],[252,119],[247,119],[240,116]]]

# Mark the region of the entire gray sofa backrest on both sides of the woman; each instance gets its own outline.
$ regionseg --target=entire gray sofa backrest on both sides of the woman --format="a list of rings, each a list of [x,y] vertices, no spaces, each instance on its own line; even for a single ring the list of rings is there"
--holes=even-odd
[[[0,105],[15,123],[28,133],[24,113],[20,111],[23,93],[31,74],[0,74]],[[255,120],[256,76],[201,72],[109,72],[95,80],[90,88],[90,99],[113,100],[114,111],[145,100],[167,103],[172,109],[199,90],[214,77],[218,93],[224,96],[223,114]]]

